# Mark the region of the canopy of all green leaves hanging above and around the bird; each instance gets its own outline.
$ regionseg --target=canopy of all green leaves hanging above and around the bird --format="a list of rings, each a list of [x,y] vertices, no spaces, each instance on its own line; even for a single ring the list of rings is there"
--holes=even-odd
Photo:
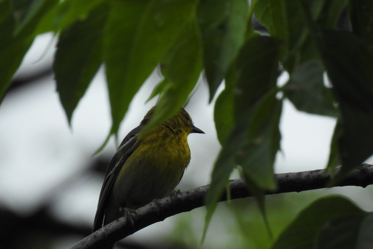
[[[343,9],[349,30],[336,28]],[[254,30],[253,15],[269,35]],[[259,200],[265,189],[276,188],[273,163],[284,99],[300,111],[338,119],[327,165],[331,172],[342,165],[335,180],[373,154],[370,0],[253,0],[250,5],[247,0],[2,0],[1,96],[34,38],[44,32],[59,37],[54,74],[69,122],[98,68],[105,66],[109,136],[116,135],[132,97],[157,66],[164,78],[151,96],[161,97],[150,125],[186,103],[201,72],[210,101],[225,80],[214,108],[222,150],[206,199],[207,223],[237,165]],[[283,71],[289,81],[278,86]],[[343,212],[333,212],[341,207]],[[328,242],[346,227],[360,228],[347,233],[358,248],[372,248],[371,216],[344,198],[322,199],[301,212],[273,248],[355,248]],[[297,246],[297,229],[308,225],[313,228],[302,236],[309,245]]]

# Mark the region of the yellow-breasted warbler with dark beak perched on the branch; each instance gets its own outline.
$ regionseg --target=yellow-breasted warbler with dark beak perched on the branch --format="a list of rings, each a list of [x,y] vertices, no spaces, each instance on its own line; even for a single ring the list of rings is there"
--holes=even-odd
[[[144,136],[138,133],[149,122],[156,106],[140,125],[123,139],[106,170],[98,199],[93,231],[123,216],[123,209],[137,209],[169,195],[190,161],[187,137],[204,133],[193,125],[182,108],[173,118]]]

